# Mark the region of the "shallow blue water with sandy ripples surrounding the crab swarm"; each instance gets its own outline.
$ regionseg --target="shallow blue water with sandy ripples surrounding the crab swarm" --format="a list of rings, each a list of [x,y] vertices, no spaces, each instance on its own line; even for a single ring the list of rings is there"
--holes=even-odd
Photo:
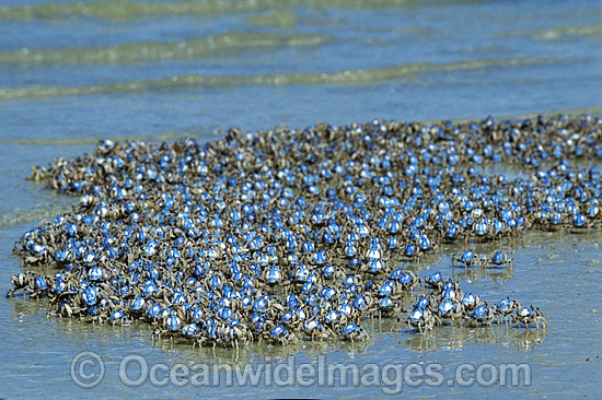
[[[101,138],[217,138],[230,127],[305,127],[372,118],[433,120],[602,111],[602,8],[597,1],[15,1],[0,5],[0,292],[20,270],[14,240],[76,200],[25,180],[31,165],[93,150]],[[546,333],[444,327],[420,337],[374,320],[367,343],[254,345],[239,352],[153,343],[146,326],[46,318],[43,302],[0,299],[0,396],[187,398],[384,397],[381,387],[183,388],[120,384],[130,353],[178,362],[316,361],[368,365],[528,363],[531,387],[404,386],[420,397],[595,396],[602,388],[602,233],[531,233],[503,244],[516,269],[454,270],[438,257],[404,263],[463,281],[489,303],[535,304]],[[474,289],[474,290],[473,290]],[[94,351],[103,383],[82,389],[70,362]]]

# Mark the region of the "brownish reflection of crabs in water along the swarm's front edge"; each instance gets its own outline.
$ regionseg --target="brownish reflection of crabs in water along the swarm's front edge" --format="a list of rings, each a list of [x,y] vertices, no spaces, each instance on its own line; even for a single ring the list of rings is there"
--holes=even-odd
[[[51,269],[38,266],[36,272],[51,273]],[[421,290],[413,291],[410,295],[402,299],[404,309],[408,309],[417,296],[424,295]],[[44,298],[31,299],[16,296],[10,299],[11,318],[20,325],[30,323],[47,314]],[[393,336],[397,344],[408,346],[412,352],[430,352],[435,350],[459,351],[475,344],[503,344],[516,350],[533,350],[541,344],[546,336],[545,330],[525,330],[524,327],[493,323],[489,327],[467,327],[444,323],[436,327],[425,334],[419,334],[416,329],[409,329],[405,315],[392,317],[370,317],[363,321],[369,339],[366,341],[339,340],[310,340],[299,338],[298,343],[274,345],[267,342],[240,343],[239,349],[219,346],[193,346],[190,342],[182,339],[155,339],[151,333],[154,327],[135,321],[130,326],[112,325],[111,322],[84,322],[72,318],[58,316],[46,317],[48,322],[59,328],[66,340],[81,340],[93,337],[101,342],[111,342],[116,338],[140,339],[143,345],[150,345],[181,357],[183,362],[202,362],[231,365],[244,365],[257,360],[273,357],[283,358],[298,353],[306,357],[317,357],[323,354],[346,353],[348,355],[370,354],[374,350],[380,351],[381,343]],[[20,329],[25,329],[20,328]]]

